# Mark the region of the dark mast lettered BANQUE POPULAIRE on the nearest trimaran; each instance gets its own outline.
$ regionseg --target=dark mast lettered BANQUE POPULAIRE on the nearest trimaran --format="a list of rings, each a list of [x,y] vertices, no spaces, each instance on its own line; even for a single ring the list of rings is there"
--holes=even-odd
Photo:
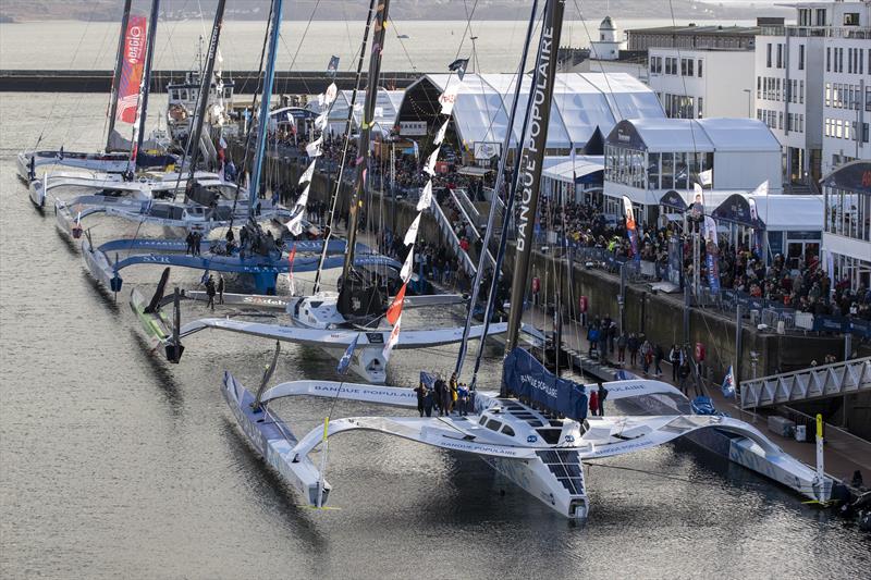
[[[563,28],[565,0],[548,0],[544,7],[544,22],[539,40],[536,71],[538,78],[529,96],[531,116],[529,144],[524,151],[523,174],[520,175],[520,214],[517,220],[517,244],[514,260],[514,280],[511,288],[511,312],[508,313],[508,335],[505,353],[517,346],[520,318],[524,312],[524,298],[529,279],[529,259],[532,256],[532,234],[538,211],[541,165],[544,161],[544,147],[548,141],[548,124],[553,100],[553,82],[556,76],[556,50]],[[501,395],[507,395],[503,381]]]

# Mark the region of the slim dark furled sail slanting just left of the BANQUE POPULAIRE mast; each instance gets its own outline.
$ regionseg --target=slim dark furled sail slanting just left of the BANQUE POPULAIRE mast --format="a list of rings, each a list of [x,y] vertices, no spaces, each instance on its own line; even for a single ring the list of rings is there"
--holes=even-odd
[[[511,114],[508,115],[508,125],[505,131],[505,139],[502,143],[502,155],[499,158],[499,169],[496,170],[496,182],[493,184],[493,196],[498,196],[499,192],[502,190],[502,184],[504,182],[505,176],[505,161],[508,158],[507,151],[511,149],[511,138],[514,132],[514,119],[517,115],[517,106],[520,101],[520,89],[523,88],[524,84],[524,71],[526,70],[526,59],[529,55],[529,45],[532,44],[532,29],[536,26],[536,12],[538,12],[538,0],[532,0],[532,11],[529,14],[529,25],[526,28],[526,40],[524,41],[524,50],[523,55],[520,57],[520,65],[517,67],[517,77],[514,87],[514,102],[511,106]],[[535,78],[532,78],[535,83]],[[526,131],[526,119],[524,119],[524,131]],[[518,146],[523,143],[524,136],[520,134],[520,139]],[[516,171],[515,171],[516,173]],[[471,298],[469,299],[469,309],[466,313],[466,325],[463,328],[463,341],[459,343],[459,353],[456,357],[456,368],[454,369],[456,372],[457,379],[459,379],[461,373],[463,372],[463,363],[466,359],[466,348],[468,346],[469,340],[469,331],[471,330],[471,317],[475,311],[475,305],[478,303],[478,292],[480,291],[481,286],[481,277],[483,276],[483,270],[487,266],[487,252],[488,252],[488,245],[490,244],[490,237],[493,234],[493,225],[495,222],[495,214],[496,214],[496,200],[492,199],[490,203],[490,214],[487,218],[487,231],[483,235],[483,244],[481,245],[481,255],[478,259],[478,270],[475,273],[475,281],[471,284]],[[505,214],[503,229],[507,230],[508,226],[508,215]],[[501,260],[494,264],[493,268],[493,280],[499,279],[499,272],[502,269]],[[491,300],[495,299],[495,293],[491,292],[487,296],[488,304]],[[481,336],[487,336],[487,331],[481,334]],[[483,344],[483,338],[481,340],[481,344]]]

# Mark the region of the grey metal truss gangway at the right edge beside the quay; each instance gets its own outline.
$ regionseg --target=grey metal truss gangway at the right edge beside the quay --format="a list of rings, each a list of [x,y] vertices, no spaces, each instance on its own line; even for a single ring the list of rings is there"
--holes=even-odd
[[[871,391],[871,357],[741,381],[741,408],[758,409]]]

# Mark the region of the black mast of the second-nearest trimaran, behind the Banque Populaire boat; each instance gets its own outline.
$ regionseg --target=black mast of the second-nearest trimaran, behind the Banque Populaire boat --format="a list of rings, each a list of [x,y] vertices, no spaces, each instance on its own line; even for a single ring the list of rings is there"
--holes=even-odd
[[[369,76],[366,85],[366,104],[363,111],[363,122],[360,123],[360,138],[357,146],[357,177],[354,184],[354,192],[351,196],[351,207],[348,208],[347,221],[347,247],[345,248],[345,262],[342,267],[342,280],[349,281],[348,274],[354,263],[354,244],[357,240],[358,212],[363,205],[363,196],[366,188],[366,168],[369,162],[369,138],[371,134],[372,120],[375,119],[375,102],[378,96],[378,77],[381,73],[381,52],[384,49],[384,38],[388,22],[388,9],[390,0],[379,3],[375,13],[375,34],[372,35],[372,51],[369,59]]]

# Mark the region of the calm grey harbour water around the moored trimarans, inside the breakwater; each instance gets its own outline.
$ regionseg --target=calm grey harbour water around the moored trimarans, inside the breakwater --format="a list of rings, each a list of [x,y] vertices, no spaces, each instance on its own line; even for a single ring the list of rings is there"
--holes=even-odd
[[[0,576],[868,578],[859,532],[685,445],[591,467],[592,513],[576,526],[477,459],[347,434],[328,465],[341,509],[299,507],[219,393],[224,369],[255,383],[270,344],[204,333],[179,366],[148,354],[126,291],[118,305],[97,291],[14,174],[14,153],[40,132],[47,147],[98,147],[103,107],[99,95],[0,94]],[[133,226],[99,222],[94,234]],[[158,275],[131,269],[126,281],[149,288]],[[316,350],[283,353],[279,378],[333,375]],[[402,351],[390,382],[453,356]],[[493,349],[486,379],[498,360]],[[305,432],[327,406],[281,412]],[[339,403],[335,416],[372,411]]]

